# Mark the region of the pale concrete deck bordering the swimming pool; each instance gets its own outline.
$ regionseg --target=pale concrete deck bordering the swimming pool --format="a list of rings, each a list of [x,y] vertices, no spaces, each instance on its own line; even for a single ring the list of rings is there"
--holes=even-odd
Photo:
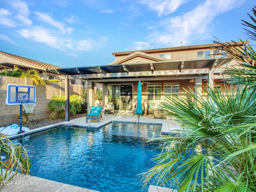
[[[20,136],[25,136],[27,134],[31,134],[34,132],[39,132],[42,130],[46,130],[52,127],[56,127],[59,125],[70,125],[70,126],[88,126],[88,127],[101,127],[105,124],[108,124],[112,121],[120,121],[120,122],[138,122],[138,115],[132,115],[131,112],[118,112],[113,114],[106,114],[103,115],[102,118],[100,118],[100,122],[97,123],[97,120],[88,120],[88,123],[86,123],[86,114],[84,114],[84,117],[72,119],[68,122],[60,122],[57,124],[44,126],[41,128],[31,129],[28,132],[14,135],[14,136],[8,136],[10,139],[17,138]],[[176,133],[176,130],[180,130],[182,127],[180,124],[177,124],[174,120],[167,118],[167,119],[158,119],[154,118],[153,114],[149,115],[143,115],[140,116],[140,123],[150,123],[150,124],[162,124],[162,134],[172,134]],[[19,183],[20,182],[20,183]],[[32,185],[30,185],[32,183]],[[16,184],[16,185],[14,185]],[[20,185],[19,185],[20,184]],[[66,191],[74,191],[74,192],[96,192],[95,190],[90,190],[86,188],[81,188],[77,186],[72,186],[60,182],[55,182],[52,180],[47,180],[43,178],[38,178],[35,176],[29,176],[29,175],[23,175],[23,174],[17,174],[13,180],[12,185],[4,186],[1,189],[2,192],[8,192],[8,191],[19,191],[19,192],[66,192]],[[172,192],[169,188],[163,188],[163,187],[156,187],[151,186],[148,190],[148,192]]]

